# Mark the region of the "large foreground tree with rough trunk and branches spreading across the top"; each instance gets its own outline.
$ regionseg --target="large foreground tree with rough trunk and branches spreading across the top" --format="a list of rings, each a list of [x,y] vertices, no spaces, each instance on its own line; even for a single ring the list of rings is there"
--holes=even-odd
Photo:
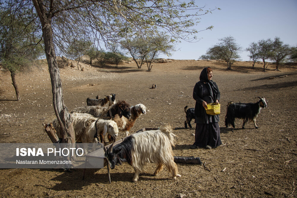
[[[193,41],[198,31],[200,15],[210,13],[195,5],[195,1],[179,0],[8,0],[1,9],[24,15],[28,21],[37,21],[44,41],[53,93],[53,107],[64,129],[62,142],[75,142],[72,119],[63,99],[63,89],[56,60],[56,50],[61,52],[71,45],[67,38],[104,42],[109,48],[112,41],[122,38],[141,38],[161,31],[169,35],[171,42],[180,39]],[[213,9],[214,10],[214,9]],[[212,26],[206,28],[211,29]],[[75,31],[73,31],[75,30]]]

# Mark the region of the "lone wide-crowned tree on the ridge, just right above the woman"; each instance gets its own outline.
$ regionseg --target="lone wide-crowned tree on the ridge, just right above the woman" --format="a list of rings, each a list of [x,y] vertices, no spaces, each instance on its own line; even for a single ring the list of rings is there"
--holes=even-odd
[[[231,70],[231,65],[241,58],[238,55],[241,47],[236,43],[234,37],[231,36],[219,39],[219,41],[217,45],[207,50],[206,55],[225,60],[227,62],[227,69]]]

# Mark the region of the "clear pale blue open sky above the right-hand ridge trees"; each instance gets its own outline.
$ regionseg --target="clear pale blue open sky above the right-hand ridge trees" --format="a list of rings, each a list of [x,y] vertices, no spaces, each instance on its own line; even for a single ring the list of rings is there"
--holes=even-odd
[[[187,2],[187,1],[186,1]],[[205,8],[220,8],[212,14],[201,16],[197,30],[214,26],[197,34],[200,41],[182,41],[171,56],[159,58],[195,59],[218,43],[218,39],[232,36],[242,47],[242,61],[249,61],[249,52],[244,51],[250,43],[261,39],[279,37],[285,44],[297,45],[297,0],[201,0],[196,5]]]

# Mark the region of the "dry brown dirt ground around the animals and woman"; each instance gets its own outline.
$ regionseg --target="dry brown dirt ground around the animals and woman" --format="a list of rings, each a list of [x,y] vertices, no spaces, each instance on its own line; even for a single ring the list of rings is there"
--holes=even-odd
[[[103,98],[115,93],[117,100],[130,105],[142,103],[149,111],[138,118],[132,131],[170,123],[178,136],[174,154],[200,157],[204,165],[177,164],[182,177],[173,180],[166,169],[153,176],[155,164],[147,164],[133,183],[132,167],[123,164],[110,171],[111,184],[105,168],[87,169],[85,180],[82,169],[2,169],[0,197],[297,197],[296,65],[281,67],[281,72],[269,65],[266,73],[263,64],[251,69],[249,62],[235,63],[232,71],[225,70],[224,62],[195,60],[155,63],[151,72],[146,72],[146,65],[137,69],[134,63],[118,68],[83,66],[84,71],[68,66],[60,70],[69,110],[85,106],[86,98],[97,94]],[[216,149],[190,149],[195,129],[184,129],[184,107],[194,107],[192,90],[205,66],[212,67],[221,92],[223,144]],[[278,78],[283,75],[287,77]],[[1,71],[0,77],[0,142],[50,142],[42,127],[55,118],[46,61],[34,71],[18,74],[19,102],[10,74]],[[157,89],[150,89],[152,84]],[[253,123],[241,129],[241,120],[234,131],[227,129],[227,102],[256,102],[256,96],[264,96],[268,106],[257,117],[259,129]]]

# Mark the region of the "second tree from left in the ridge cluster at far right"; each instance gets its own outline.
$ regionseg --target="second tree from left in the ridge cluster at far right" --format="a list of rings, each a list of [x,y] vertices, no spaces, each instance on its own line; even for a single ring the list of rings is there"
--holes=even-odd
[[[262,59],[264,63],[263,72],[266,72],[266,68],[268,67],[268,65],[266,66],[266,60],[272,57],[273,41],[270,38],[266,40],[262,39],[257,42],[257,46],[257,55],[259,56],[259,58]]]

